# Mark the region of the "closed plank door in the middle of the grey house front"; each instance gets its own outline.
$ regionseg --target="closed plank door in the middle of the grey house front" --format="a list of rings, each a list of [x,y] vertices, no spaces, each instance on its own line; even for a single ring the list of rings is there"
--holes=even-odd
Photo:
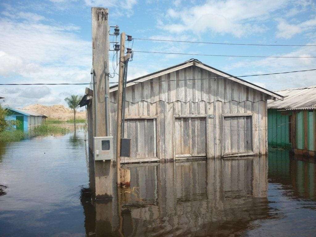
[[[175,118],[175,157],[206,156],[206,117]]]

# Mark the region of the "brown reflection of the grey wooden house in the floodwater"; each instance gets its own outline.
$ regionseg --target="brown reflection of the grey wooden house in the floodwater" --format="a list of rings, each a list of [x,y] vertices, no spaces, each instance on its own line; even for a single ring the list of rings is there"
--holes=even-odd
[[[131,187],[112,201],[82,190],[87,236],[228,236],[271,218],[265,157],[125,168]]]

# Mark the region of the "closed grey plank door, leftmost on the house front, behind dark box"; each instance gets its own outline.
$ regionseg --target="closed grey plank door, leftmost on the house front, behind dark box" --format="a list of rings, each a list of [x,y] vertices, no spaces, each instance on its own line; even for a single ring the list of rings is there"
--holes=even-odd
[[[126,119],[124,137],[131,139],[131,157],[125,159],[157,157],[156,119]]]

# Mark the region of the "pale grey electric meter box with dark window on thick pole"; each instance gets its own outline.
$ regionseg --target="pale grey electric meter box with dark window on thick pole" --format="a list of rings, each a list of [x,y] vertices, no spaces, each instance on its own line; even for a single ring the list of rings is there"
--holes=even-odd
[[[94,160],[113,159],[113,137],[93,137]]]

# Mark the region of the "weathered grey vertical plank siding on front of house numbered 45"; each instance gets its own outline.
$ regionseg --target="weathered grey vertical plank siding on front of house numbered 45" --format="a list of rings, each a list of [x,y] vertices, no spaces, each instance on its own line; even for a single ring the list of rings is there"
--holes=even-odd
[[[225,142],[230,142],[230,146],[237,151],[245,149],[243,137],[249,135],[244,131],[244,127],[247,126],[245,123],[251,122],[253,152],[256,155],[264,155],[267,152],[265,94],[227,78],[180,81],[208,77],[220,76],[190,66],[150,79],[151,82],[141,82],[127,87],[126,117],[143,117],[138,122],[130,119],[125,121],[125,137],[131,138],[132,144],[146,141],[143,145],[132,145],[134,157],[154,155],[160,160],[172,160],[176,155],[183,154],[221,157],[223,113],[253,113],[252,121],[232,119],[225,130],[229,131],[230,139]],[[114,141],[116,97],[116,91],[110,93],[111,136],[114,137]],[[214,114],[215,117],[209,118],[210,114]],[[156,118],[145,119],[146,116]],[[239,135],[242,133],[244,136],[240,138]],[[153,141],[148,141],[153,134],[156,134],[156,137]],[[156,148],[154,154],[148,150],[152,142]]]

